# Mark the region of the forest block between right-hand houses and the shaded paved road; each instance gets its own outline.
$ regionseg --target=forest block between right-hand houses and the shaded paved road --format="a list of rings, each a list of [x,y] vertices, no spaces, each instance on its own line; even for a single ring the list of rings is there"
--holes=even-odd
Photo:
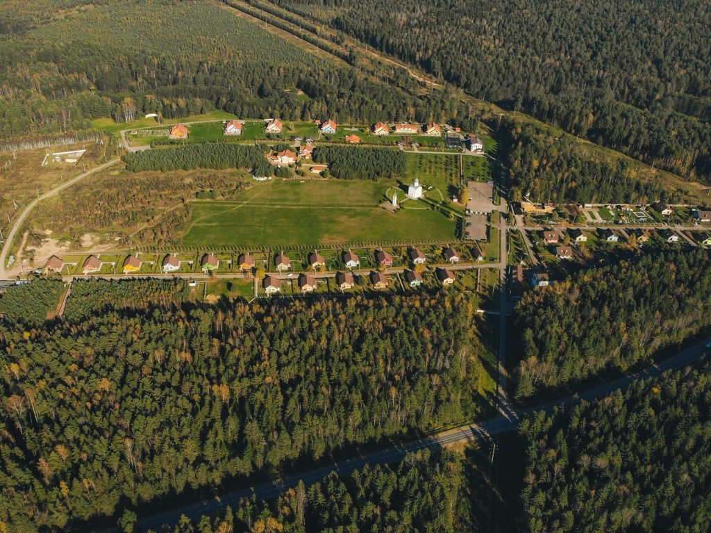
[[[516,395],[632,369],[710,325],[708,250],[648,250],[585,270],[520,300]]]

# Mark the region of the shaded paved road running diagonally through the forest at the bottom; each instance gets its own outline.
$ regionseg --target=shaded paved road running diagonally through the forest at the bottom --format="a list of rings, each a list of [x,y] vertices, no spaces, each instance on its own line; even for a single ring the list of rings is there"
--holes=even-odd
[[[551,401],[540,406],[526,408],[523,410],[511,409],[496,418],[480,424],[460,426],[459,428],[437,433],[431,437],[415,440],[412,443],[394,446],[392,448],[387,448],[368,455],[361,455],[360,457],[343,460],[342,463],[334,462],[333,464],[322,468],[316,468],[308,472],[290,475],[289,477],[277,479],[272,482],[266,482],[262,485],[257,485],[256,487],[245,487],[241,490],[236,490],[235,492],[229,492],[224,495],[216,495],[212,500],[204,500],[190,505],[183,505],[171,511],[141,517],[138,521],[138,525],[143,531],[146,531],[146,529],[154,529],[154,531],[158,531],[163,524],[177,524],[183,514],[193,519],[199,518],[203,514],[210,514],[223,510],[228,505],[235,507],[235,504],[237,504],[241,498],[250,497],[253,494],[266,500],[277,497],[279,494],[284,492],[287,487],[296,485],[299,480],[306,483],[306,485],[309,485],[324,479],[324,477],[331,472],[336,472],[340,475],[348,475],[354,470],[363,468],[366,464],[375,465],[379,463],[397,462],[402,460],[402,458],[405,457],[405,454],[416,450],[422,450],[423,448],[436,449],[447,444],[471,442],[472,440],[506,433],[507,431],[515,429],[525,416],[537,411],[550,413],[556,407],[564,406],[567,403],[573,403],[579,399],[587,401],[598,399],[602,396],[610,394],[611,392],[626,389],[629,385],[634,383],[634,381],[639,379],[648,379],[658,376],[666,370],[683,368],[683,366],[687,366],[688,364],[695,362],[702,356],[702,354],[704,354],[706,351],[706,344],[710,340],[711,339],[705,339],[692,347],[683,349],[678,352],[678,354],[675,354],[669,359],[665,359],[665,361],[659,364],[649,366],[646,369],[638,371],[634,374],[629,374],[629,376],[617,379],[616,381],[611,381],[610,383],[588,389],[582,394],[567,396],[564,399]],[[118,532],[118,529],[112,528],[106,529],[105,531],[113,533]]]

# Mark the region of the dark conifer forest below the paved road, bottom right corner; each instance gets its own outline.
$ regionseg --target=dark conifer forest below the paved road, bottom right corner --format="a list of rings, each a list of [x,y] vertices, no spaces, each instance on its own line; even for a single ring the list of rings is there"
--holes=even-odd
[[[523,423],[521,533],[711,529],[711,367]]]

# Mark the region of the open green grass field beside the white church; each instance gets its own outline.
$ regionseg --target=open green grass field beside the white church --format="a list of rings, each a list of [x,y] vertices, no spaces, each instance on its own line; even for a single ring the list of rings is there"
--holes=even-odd
[[[442,241],[454,236],[454,222],[437,211],[388,213],[378,207],[388,186],[370,181],[257,184],[234,201],[196,202],[183,246]]]

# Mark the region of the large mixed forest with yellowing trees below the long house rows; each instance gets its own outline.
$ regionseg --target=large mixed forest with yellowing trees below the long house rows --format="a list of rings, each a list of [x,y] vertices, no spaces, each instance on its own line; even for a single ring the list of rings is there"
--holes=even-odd
[[[31,287],[6,309],[30,308]],[[61,319],[0,322],[0,524],[63,529],[478,409],[464,295],[187,296],[178,281],[77,281]]]

